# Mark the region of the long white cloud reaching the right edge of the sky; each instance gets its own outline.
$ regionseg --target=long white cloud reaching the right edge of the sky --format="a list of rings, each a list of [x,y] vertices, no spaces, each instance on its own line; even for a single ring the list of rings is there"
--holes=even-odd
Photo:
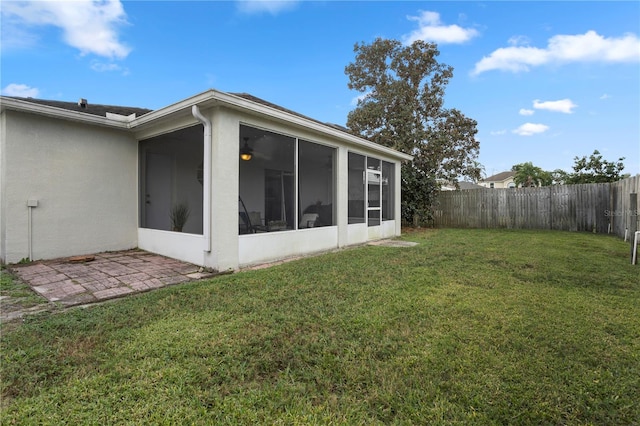
[[[513,39],[510,40],[513,44]],[[637,62],[640,39],[635,34],[606,38],[595,31],[577,35],[556,35],[546,48],[529,46],[501,47],[476,62],[472,74],[485,71],[529,71],[533,66],[570,62]]]

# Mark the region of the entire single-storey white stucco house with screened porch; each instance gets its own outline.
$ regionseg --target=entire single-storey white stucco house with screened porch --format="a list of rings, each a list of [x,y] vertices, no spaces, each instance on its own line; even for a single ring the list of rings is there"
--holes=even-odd
[[[400,234],[411,156],[251,95],[0,101],[4,263],[138,247],[227,270]]]

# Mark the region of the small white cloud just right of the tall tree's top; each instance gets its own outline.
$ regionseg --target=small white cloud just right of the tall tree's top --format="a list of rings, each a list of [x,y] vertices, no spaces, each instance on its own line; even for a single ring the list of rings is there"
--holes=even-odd
[[[478,36],[480,33],[474,28],[462,28],[458,25],[444,25],[437,12],[420,11],[419,16],[407,16],[410,21],[418,22],[418,29],[402,37],[404,44],[411,44],[416,40],[432,41],[436,43],[464,43]]]

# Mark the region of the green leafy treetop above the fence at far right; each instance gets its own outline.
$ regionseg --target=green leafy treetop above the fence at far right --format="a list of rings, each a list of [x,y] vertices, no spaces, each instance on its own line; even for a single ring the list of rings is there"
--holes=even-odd
[[[622,174],[624,170],[624,157],[618,161],[607,161],[602,158],[602,154],[597,149],[587,156],[575,157],[572,173],[564,173],[556,170],[557,179],[562,183],[606,183],[616,182],[624,179],[627,175]]]

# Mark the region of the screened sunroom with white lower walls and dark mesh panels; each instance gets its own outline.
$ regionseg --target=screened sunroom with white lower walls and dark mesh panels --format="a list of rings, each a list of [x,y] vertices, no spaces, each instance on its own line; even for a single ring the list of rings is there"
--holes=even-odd
[[[246,97],[206,92],[179,129],[139,124],[141,248],[221,270],[400,234],[410,156]]]

